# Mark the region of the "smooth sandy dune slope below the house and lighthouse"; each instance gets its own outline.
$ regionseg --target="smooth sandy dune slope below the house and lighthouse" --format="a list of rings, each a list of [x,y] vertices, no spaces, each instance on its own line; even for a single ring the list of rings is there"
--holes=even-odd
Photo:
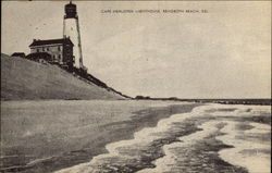
[[[123,98],[57,65],[1,53],[1,100]]]

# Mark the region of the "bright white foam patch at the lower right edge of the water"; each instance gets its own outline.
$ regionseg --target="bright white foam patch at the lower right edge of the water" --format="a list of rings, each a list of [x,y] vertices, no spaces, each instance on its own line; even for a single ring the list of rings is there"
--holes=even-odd
[[[271,126],[250,123],[254,128],[237,132],[235,131],[237,124],[237,122],[227,122],[227,125],[222,129],[226,135],[217,137],[224,144],[234,146],[234,148],[221,150],[220,157],[234,165],[247,168],[250,173],[270,173],[271,144],[263,140],[248,140],[248,138],[271,133]],[[239,136],[248,137],[239,139]]]

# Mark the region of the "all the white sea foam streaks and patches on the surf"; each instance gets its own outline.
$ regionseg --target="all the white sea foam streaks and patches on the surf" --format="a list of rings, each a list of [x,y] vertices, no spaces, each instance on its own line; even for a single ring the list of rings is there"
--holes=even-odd
[[[219,131],[219,124],[225,125],[221,129],[225,135],[218,136],[217,139],[226,145],[234,146],[234,148],[219,151],[219,156],[223,160],[231,164],[246,168],[250,172],[258,171],[260,168],[264,168],[264,171],[268,171],[268,162],[270,161],[268,157],[270,157],[270,155],[261,152],[256,159],[252,159],[252,157],[248,155],[240,155],[240,151],[247,149],[267,149],[271,151],[270,147],[268,147],[270,144],[252,144],[245,139],[237,139],[236,136],[242,133],[244,133],[244,136],[245,134],[271,133],[270,125],[251,122],[249,125],[254,128],[238,131],[236,125],[243,122],[238,122],[235,119],[228,119],[250,118],[265,112],[270,112],[270,107],[228,104],[206,104],[197,107],[189,113],[173,114],[168,119],[163,119],[159,121],[156,127],[147,127],[136,132],[133,139],[108,144],[106,148],[109,153],[99,155],[94,157],[90,162],[63,169],[58,171],[58,173],[118,173],[136,171],[138,171],[138,173],[171,172],[171,170],[176,166],[176,161],[183,157],[174,155],[172,148],[190,147],[194,144],[197,144],[207,136],[217,133]],[[181,136],[182,132],[186,131],[188,127],[184,126],[184,122],[193,119],[196,119],[194,121],[197,121],[197,119],[207,120],[203,124],[198,126],[201,131],[194,131],[193,134]],[[248,163],[233,158],[244,159],[244,161],[247,161]],[[250,159],[252,159],[252,162],[255,161],[256,164],[250,162]],[[260,159],[261,162],[258,161],[258,159]]]

